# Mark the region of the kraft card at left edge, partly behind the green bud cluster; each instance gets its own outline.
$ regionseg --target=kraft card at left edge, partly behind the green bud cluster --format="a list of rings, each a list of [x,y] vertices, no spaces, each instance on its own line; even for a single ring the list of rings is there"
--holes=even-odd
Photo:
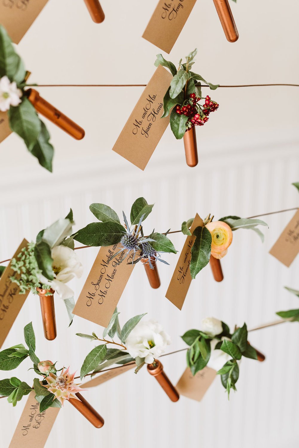
[[[22,244],[17,248],[13,258],[15,258],[27,244],[28,241],[24,239]],[[19,294],[20,289],[18,285],[9,280],[13,275],[14,271],[9,263],[0,280],[0,347],[2,347],[6,336],[9,334],[9,330],[29,294],[29,291],[26,291],[25,294]]]

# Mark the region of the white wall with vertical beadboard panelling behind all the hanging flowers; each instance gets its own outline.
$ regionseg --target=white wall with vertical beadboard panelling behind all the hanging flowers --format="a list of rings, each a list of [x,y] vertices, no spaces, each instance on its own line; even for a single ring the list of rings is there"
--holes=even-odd
[[[154,72],[159,49],[140,36],[156,1],[102,0],[106,19],[91,22],[83,1],[49,0],[19,44],[32,72],[32,82],[146,83]],[[294,52],[299,31],[298,2],[238,0],[231,8],[240,38],[225,40],[212,1],[198,1],[169,59],[174,62],[199,48],[196,71],[221,84],[298,83],[299,60]],[[166,57],[167,55],[165,55]],[[166,57],[167,59],[167,57]],[[130,212],[132,202],[144,196],[156,202],[145,228],[161,232],[180,228],[197,211],[219,218],[227,214],[251,216],[298,205],[290,184],[299,180],[298,99],[295,87],[219,89],[220,103],[208,124],[197,129],[199,164],[188,168],[183,143],[167,129],[146,170],[141,172],[111,151],[142,88],[40,88],[41,95],[86,130],[77,142],[47,122],[55,146],[54,173],[39,167],[22,141],[12,135],[0,147],[0,259],[9,258],[23,237],[35,239],[41,228],[74,210],[77,228],[93,221],[91,202],[104,202],[118,213]],[[223,260],[225,280],[217,284],[204,269],[192,282],[182,311],[165,298],[176,264],[175,255],[159,265],[161,287],[153,290],[142,266],[137,266],[119,302],[121,322],[147,311],[172,338],[170,350],[184,347],[179,335],[198,328],[202,318],[218,317],[231,327],[248,327],[275,319],[275,312],[295,308],[295,296],[284,285],[299,288],[297,258],[288,269],[268,254],[293,212],[266,217],[269,230],[261,244],[254,233],[239,230]],[[184,236],[174,235],[180,250]],[[74,281],[75,295],[94,261],[96,248],[80,250],[82,279]],[[22,330],[33,321],[40,358],[80,369],[92,346],[76,332],[100,333],[93,323],[76,318],[68,328],[63,304],[56,301],[58,336],[43,338],[39,300],[28,297],[4,347],[23,341]],[[267,359],[245,359],[238,392],[228,402],[220,379],[201,403],[181,397],[172,403],[156,381],[142,370],[127,372],[105,386],[86,392],[87,400],[105,419],[95,429],[66,403],[56,419],[46,447],[83,444],[90,447],[135,445],[242,446],[273,448],[298,446],[299,413],[297,356],[298,326],[285,323],[252,333],[252,345]],[[28,365],[27,365],[28,364]],[[163,359],[165,371],[176,383],[185,369],[185,354]],[[29,362],[13,374],[32,381]],[[5,378],[9,372],[3,372]],[[1,446],[8,447],[25,400],[16,408],[0,401]]]

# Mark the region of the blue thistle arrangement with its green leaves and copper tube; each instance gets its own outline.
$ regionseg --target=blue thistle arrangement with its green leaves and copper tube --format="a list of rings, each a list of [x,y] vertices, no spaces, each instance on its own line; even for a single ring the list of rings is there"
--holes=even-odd
[[[102,222],[91,223],[78,230],[74,234],[74,239],[87,246],[119,244],[119,251],[111,259],[124,252],[125,256],[118,264],[125,259],[132,264],[141,261],[150,285],[152,288],[159,288],[160,278],[156,262],[169,264],[162,260],[160,254],[176,254],[177,251],[166,236],[168,232],[163,234],[153,230],[149,236],[144,236],[142,223],[151,213],[153,206],[154,204],[148,204],[144,198],[136,199],[131,208],[130,225],[124,212],[122,212],[124,224],[121,224],[117,213],[111,207],[105,204],[91,204],[90,211]]]

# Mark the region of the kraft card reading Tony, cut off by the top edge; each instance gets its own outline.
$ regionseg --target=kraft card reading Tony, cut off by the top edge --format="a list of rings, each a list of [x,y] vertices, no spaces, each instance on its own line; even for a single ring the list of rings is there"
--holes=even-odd
[[[159,0],[143,38],[170,53],[196,0]]]

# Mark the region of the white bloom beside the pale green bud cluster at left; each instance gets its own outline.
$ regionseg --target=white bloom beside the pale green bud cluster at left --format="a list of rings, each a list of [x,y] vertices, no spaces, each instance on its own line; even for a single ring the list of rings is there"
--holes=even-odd
[[[51,251],[51,257],[53,258],[54,280],[48,280],[43,275],[39,276],[39,280],[51,286],[63,300],[74,297],[74,291],[66,283],[74,277],[80,278],[83,271],[75,251],[67,246],[55,246]]]

